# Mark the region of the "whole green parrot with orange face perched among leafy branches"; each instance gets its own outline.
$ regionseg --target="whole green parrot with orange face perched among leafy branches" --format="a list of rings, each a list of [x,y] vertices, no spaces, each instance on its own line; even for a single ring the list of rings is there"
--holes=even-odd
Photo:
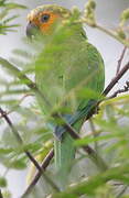
[[[74,20],[72,11],[45,4],[32,10],[28,20],[26,35],[39,32],[44,46],[35,62],[36,86],[45,96],[45,101],[37,97],[42,111],[47,116],[52,108],[60,107],[57,111],[79,132],[92,103],[104,89],[103,58],[88,43],[83,24]],[[61,125],[55,127],[54,146],[56,168],[64,184],[75,148],[73,139]]]

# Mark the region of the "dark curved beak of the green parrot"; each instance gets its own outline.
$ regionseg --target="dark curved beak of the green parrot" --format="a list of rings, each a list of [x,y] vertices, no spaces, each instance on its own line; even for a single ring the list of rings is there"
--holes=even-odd
[[[30,22],[26,25],[26,36],[28,37],[32,38],[33,36],[36,35],[37,31],[39,31],[39,28],[35,24]]]

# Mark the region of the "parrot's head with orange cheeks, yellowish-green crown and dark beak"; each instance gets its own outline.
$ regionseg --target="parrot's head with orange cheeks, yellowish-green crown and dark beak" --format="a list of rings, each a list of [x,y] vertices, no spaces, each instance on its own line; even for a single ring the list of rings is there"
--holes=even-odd
[[[56,4],[37,7],[28,15],[26,35],[32,37],[36,32],[43,35],[52,35],[54,30],[71,15],[68,9]]]

